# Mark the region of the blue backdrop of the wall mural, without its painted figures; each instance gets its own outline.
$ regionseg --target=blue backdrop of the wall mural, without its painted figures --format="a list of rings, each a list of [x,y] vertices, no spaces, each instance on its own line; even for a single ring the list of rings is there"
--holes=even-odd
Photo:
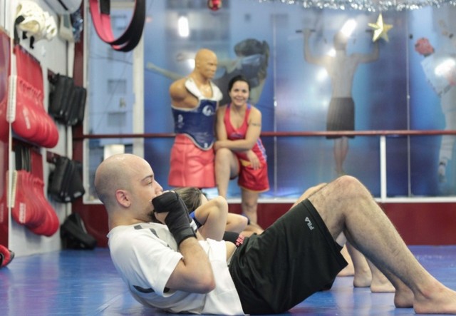
[[[223,1],[223,8],[217,12],[205,5],[192,7],[192,1],[185,4],[189,6],[182,8],[182,2],[175,1],[149,3],[152,21],[146,24],[144,33],[145,63],[185,76],[192,71],[187,58],[202,47],[212,49],[222,60],[236,58],[233,47],[243,39],[266,41],[271,50],[268,75],[257,103],[263,113],[262,131],[326,131],[331,81],[328,77],[319,79],[323,67],[304,60],[304,36],[296,31],[314,29],[311,51],[323,54],[331,49],[333,35],[343,23],[355,19],[358,26],[348,41],[347,52],[368,53],[373,49],[368,23],[378,19],[378,13],[302,9],[270,2]],[[447,39],[441,34],[439,21],[455,29],[450,19],[454,14],[453,6],[383,12],[385,24],[393,25],[389,41],[378,40],[378,60],[358,66],[353,78],[356,131],[445,128],[440,99],[426,81],[420,64],[423,56],[415,52],[414,44],[424,36],[438,47]],[[180,15],[189,18],[188,38],[177,35]],[[145,133],[173,132],[168,95],[172,81],[174,78],[157,71],[145,72]],[[336,177],[331,140],[264,137],[263,141],[271,181],[271,190],[265,196],[296,196],[303,188]],[[145,158],[165,187],[171,146],[172,138],[145,141]],[[378,196],[379,138],[356,136],[349,146],[346,172],[360,178]],[[439,148],[440,136],[389,137],[388,196],[447,194],[449,191],[442,190],[437,178]],[[448,178],[447,188],[453,182]],[[230,195],[239,195],[235,182],[230,185]]]

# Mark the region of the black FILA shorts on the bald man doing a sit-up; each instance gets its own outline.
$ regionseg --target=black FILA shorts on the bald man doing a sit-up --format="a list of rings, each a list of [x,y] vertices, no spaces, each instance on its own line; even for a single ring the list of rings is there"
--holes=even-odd
[[[246,314],[286,312],[331,284],[347,265],[309,200],[261,235],[246,238],[229,265]]]

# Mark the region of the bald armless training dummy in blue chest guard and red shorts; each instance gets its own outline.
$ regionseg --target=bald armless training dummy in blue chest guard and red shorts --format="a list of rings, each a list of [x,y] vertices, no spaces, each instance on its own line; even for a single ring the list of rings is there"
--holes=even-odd
[[[172,187],[214,188],[215,111],[222,92],[212,78],[217,71],[217,56],[200,49],[195,69],[186,78],[170,86],[171,108],[175,123],[175,142],[171,149]]]

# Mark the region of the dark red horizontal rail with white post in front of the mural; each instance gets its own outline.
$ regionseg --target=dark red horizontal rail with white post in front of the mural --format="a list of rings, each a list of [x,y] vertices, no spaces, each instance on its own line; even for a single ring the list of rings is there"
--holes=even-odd
[[[83,141],[86,139],[103,139],[103,138],[174,138],[175,133],[130,133],[130,134],[84,134],[75,136],[73,139]],[[406,197],[406,198],[388,198],[386,188],[386,138],[410,137],[410,136],[443,136],[456,135],[456,130],[375,130],[375,131],[263,131],[261,137],[326,137],[326,136],[371,136],[380,138],[380,198],[379,202],[394,200],[397,202],[423,202],[429,200],[456,202],[456,196],[439,196],[439,197]],[[409,175],[410,188],[410,175]],[[409,194],[410,195],[410,194]]]

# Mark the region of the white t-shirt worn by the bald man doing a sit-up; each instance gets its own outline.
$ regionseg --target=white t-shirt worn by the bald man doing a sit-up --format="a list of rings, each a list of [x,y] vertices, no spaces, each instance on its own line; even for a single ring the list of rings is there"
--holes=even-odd
[[[135,300],[167,312],[244,315],[229,274],[225,242],[199,241],[209,256],[216,287],[207,294],[167,290],[165,285],[182,255],[166,225],[117,226],[108,233],[110,255]]]

